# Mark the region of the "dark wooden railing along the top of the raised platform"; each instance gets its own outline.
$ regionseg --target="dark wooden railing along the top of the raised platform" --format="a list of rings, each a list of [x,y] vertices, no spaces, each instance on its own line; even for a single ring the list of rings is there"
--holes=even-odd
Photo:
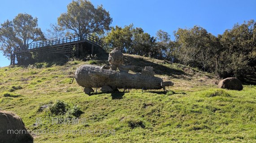
[[[82,42],[82,41],[91,42],[92,44],[97,45],[99,47],[103,46],[103,43],[99,38],[94,37],[91,34],[84,33],[84,34],[77,34],[77,35],[72,35],[72,36],[67,36],[67,37],[51,39],[51,40],[47,40],[47,41],[40,41],[40,42],[36,42],[36,43],[31,43],[28,45],[23,45],[21,47],[19,46],[19,47],[17,47],[17,49],[19,49],[19,51],[17,51],[17,53],[22,52],[23,50],[43,48],[43,47],[48,47],[48,46],[64,45],[64,44],[68,44],[68,43]]]

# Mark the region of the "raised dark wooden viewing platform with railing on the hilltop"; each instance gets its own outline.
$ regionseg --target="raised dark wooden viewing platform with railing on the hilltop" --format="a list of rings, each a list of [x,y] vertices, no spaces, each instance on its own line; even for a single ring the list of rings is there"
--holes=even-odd
[[[76,46],[76,53],[79,52],[80,43],[91,45],[91,53],[93,52],[94,46],[102,48],[103,42],[91,34],[83,33],[76,34],[67,37],[61,37],[56,39],[51,39],[47,41],[40,41],[31,43],[28,45],[18,46],[18,51],[15,51],[11,56],[12,65],[15,64],[15,60],[19,61],[21,58],[26,59],[32,56],[33,52],[40,52],[40,54],[45,53],[62,53],[62,54],[71,54],[74,52],[74,46]]]

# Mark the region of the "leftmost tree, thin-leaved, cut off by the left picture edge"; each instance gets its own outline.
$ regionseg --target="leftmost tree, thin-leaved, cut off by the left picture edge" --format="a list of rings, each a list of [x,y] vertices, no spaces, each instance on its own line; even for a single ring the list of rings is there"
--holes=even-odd
[[[0,50],[5,57],[11,60],[11,63],[11,57],[16,50],[18,43],[21,43],[21,41],[15,37],[13,22],[9,20],[5,21],[1,24],[0,28]]]

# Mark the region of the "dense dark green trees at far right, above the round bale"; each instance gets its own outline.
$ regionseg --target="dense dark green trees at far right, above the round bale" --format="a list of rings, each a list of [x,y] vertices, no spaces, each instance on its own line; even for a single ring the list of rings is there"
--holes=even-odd
[[[234,25],[218,37],[206,29],[178,29],[175,33],[175,62],[198,67],[221,78],[241,80],[255,76],[256,23]]]

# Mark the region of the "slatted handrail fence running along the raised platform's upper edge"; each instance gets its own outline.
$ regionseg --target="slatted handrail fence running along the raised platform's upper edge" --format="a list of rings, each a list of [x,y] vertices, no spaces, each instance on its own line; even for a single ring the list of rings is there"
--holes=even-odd
[[[85,36],[85,37],[83,37],[83,39],[80,39],[81,35]],[[65,44],[65,43],[71,43],[71,42],[83,41],[83,40],[93,42],[93,43],[95,43],[96,45],[99,45],[99,46],[102,46],[102,44],[103,44],[103,42],[99,38],[94,37],[93,35],[91,35],[89,33],[82,33],[82,34],[74,34],[74,35],[70,35],[70,36],[66,36],[66,37],[49,39],[49,40],[46,40],[46,41],[32,42],[30,44],[17,46],[17,47],[22,47],[22,48],[27,47],[27,49],[35,49],[35,48],[46,47],[46,46],[49,46],[50,44],[52,44],[52,45],[61,45],[61,44]],[[54,44],[54,42],[55,42],[55,44]],[[22,50],[20,50],[20,51],[22,51]]]

